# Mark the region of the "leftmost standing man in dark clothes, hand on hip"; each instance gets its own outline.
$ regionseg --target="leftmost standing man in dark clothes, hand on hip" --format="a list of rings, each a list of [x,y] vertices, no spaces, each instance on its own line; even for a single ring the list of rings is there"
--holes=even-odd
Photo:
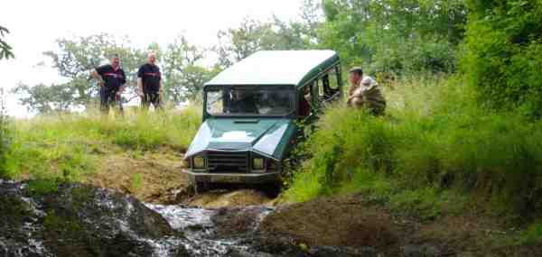
[[[124,70],[120,68],[118,55],[114,54],[111,57],[110,64],[93,69],[90,76],[98,80],[100,109],[107,113],[111,104],[121,101],[120,96],[124,92],[126,84],[126,75]]]

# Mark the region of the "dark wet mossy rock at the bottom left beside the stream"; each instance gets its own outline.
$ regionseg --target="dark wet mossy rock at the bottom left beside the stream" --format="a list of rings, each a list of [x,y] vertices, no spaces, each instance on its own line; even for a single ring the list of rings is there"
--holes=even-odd
[[[69,184],[36,193],[5,181],[0,230],[0,256],[152,256],[157,241],[178,236],[133,197]]]

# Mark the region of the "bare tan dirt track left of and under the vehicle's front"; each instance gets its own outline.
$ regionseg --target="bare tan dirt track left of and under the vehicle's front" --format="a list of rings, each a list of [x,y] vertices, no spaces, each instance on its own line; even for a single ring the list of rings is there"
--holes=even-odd
[[[274,199],[255,189],[217,189],[193,196],[188,178],[180,172],[182,154],[168,149],[158,151],[107,152],[96,174],[88,180],[93,186],[109,188],[154,204],[184,204],[191,207],[245,207],[273,205]]]

